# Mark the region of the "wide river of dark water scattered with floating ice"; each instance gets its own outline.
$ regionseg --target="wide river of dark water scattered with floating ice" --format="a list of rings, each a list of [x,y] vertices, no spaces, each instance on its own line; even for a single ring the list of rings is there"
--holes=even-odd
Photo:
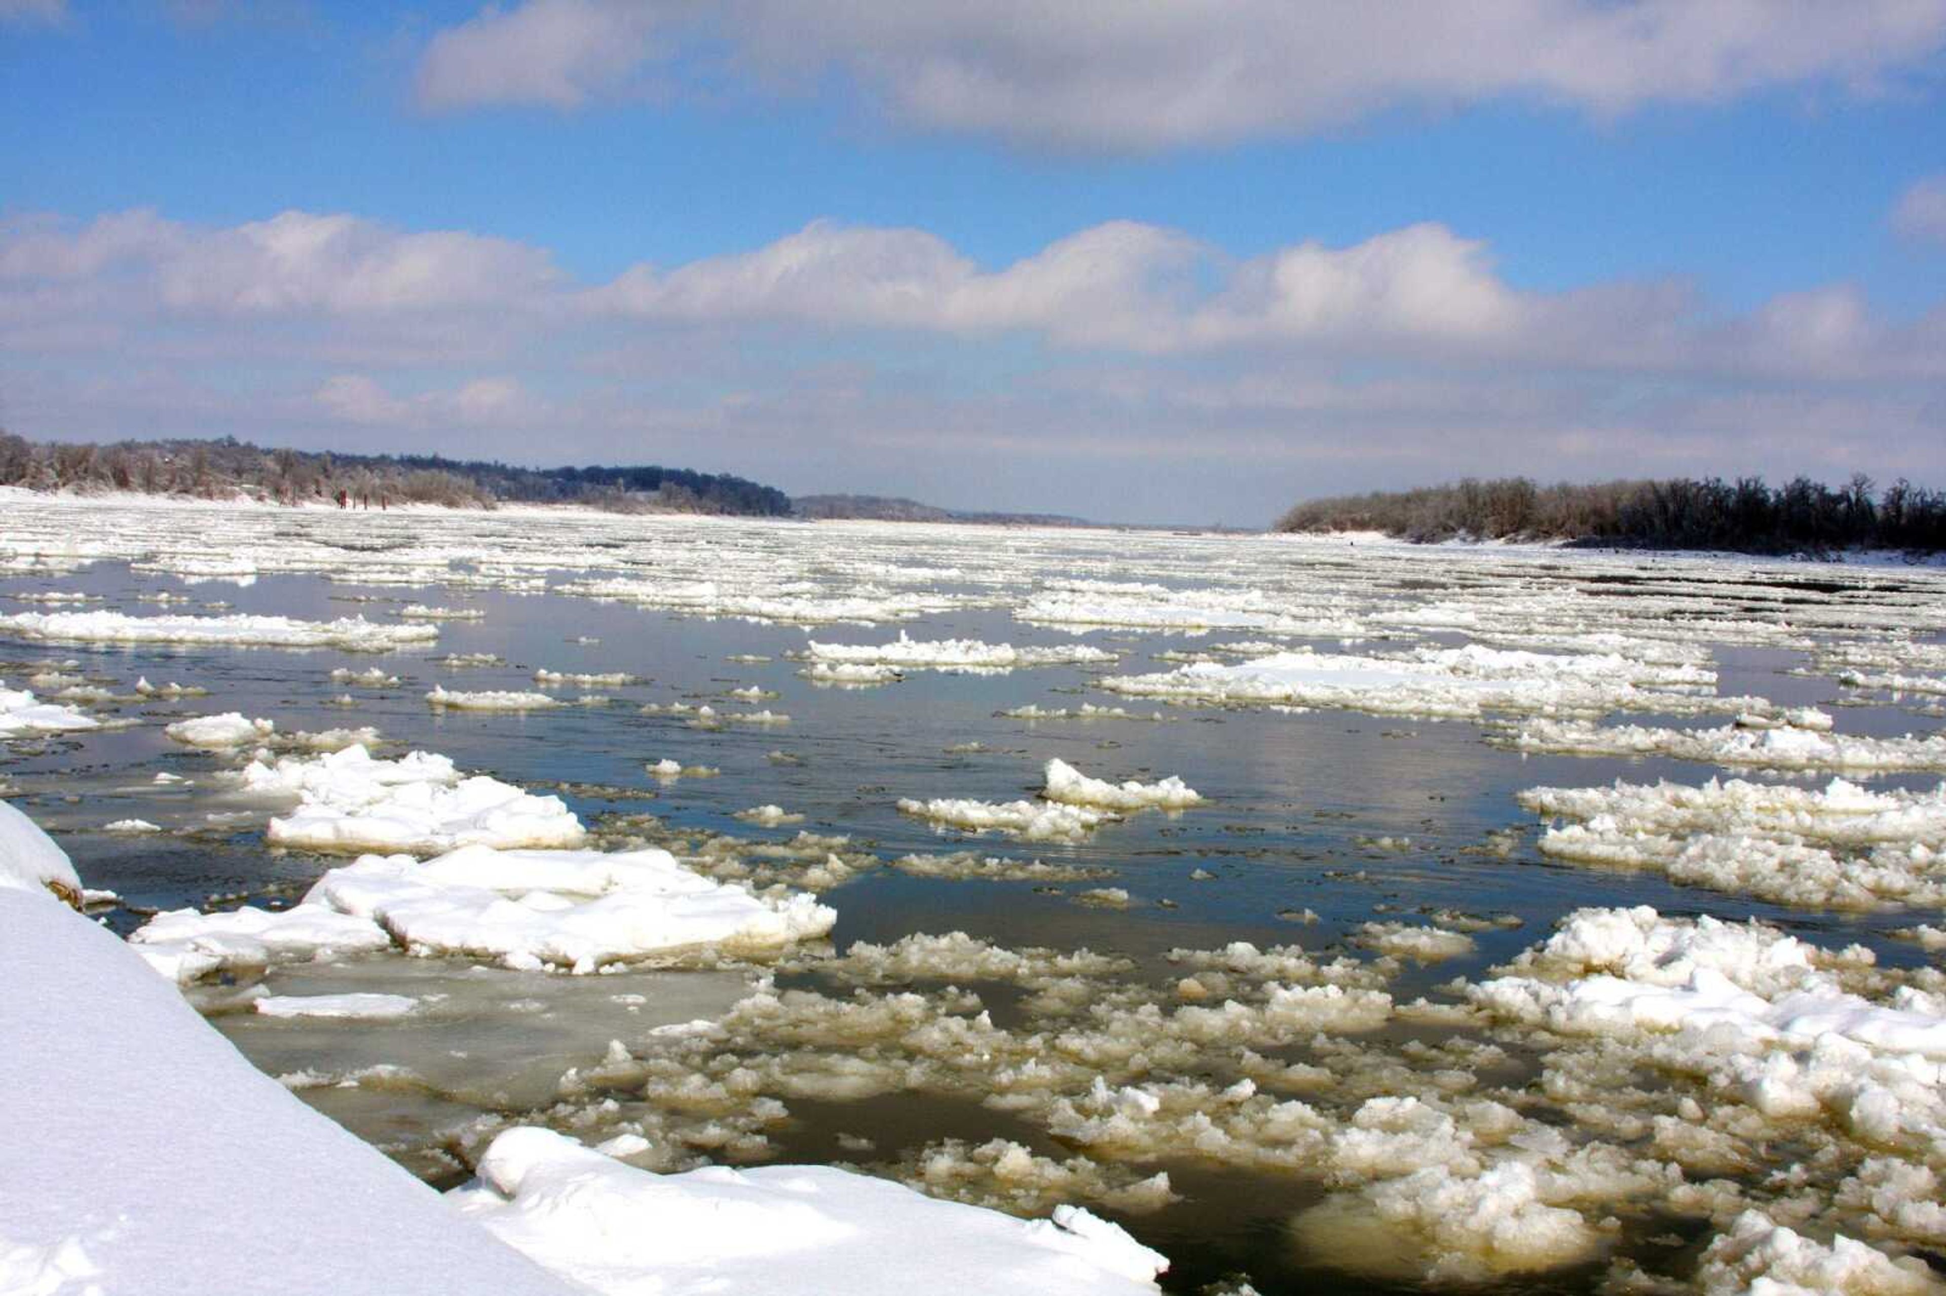
[[[1171,1292],[1938,1284],[1938,568],[0,510],[0,790],[440,1187],[545,1125]]]

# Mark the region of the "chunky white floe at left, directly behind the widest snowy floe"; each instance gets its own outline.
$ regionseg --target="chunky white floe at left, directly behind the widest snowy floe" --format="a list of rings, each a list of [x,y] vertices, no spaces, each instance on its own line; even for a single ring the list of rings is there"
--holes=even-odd
[[[578,846],[582,821],[559,796],[535,796],[451,759],[413,751],[376,759],[364,743],[325,755],[259,755],[230,774],[232,796],[294,802],[270,819],[282,846],[354,854],[438,854],[455,846]]]

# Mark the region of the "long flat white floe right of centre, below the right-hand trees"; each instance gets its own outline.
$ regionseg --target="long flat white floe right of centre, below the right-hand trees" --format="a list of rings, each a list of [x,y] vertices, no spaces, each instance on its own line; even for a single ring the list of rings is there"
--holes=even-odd
[[[1099,685],[1131,697],[1195,702],[1343,706],[1376,714],[1460,716],[1604,710],[1740,710],[1755,699],[1718,699],[1714,673],[1613,654],[1539,654],[1500,648],[1421,648],[1405,658],[1280,652],[1224,666],[1197,662],[1156,675],[1111,675]]]

